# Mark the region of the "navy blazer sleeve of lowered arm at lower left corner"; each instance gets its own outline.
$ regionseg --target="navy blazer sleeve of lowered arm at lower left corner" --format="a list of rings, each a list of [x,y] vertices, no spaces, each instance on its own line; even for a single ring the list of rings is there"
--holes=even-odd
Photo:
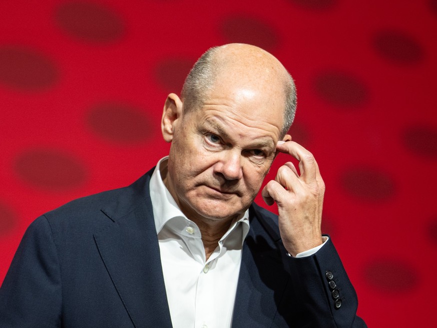
[[[0,326],[60,327],[61,272],[52,230],[45,216],[26,233],[0,288]]]

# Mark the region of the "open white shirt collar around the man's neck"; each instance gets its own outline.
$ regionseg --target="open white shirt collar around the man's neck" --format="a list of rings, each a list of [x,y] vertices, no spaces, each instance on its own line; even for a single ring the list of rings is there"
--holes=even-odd
[[[156,168],[150,178],[150,198],[152,200],[153,216],[155,218],[156,233],[158,234],[167,223],[173,218],[179,218],[172,220],[174,222],[183,219],[185,221],[190,221],[192,224],[196,225],[194,222],[189,220],[184,213],[182,213],[176,201],[168,191],[161,177],[161,169],[167,166],[168,156],[161,158],[156,164]],[[239,223],[241,222],[241,223]],[[242,225],[242,241],[247,236],[249,232],[249,210],[246,210],[243,215],[237,218],[237,220],[231,225],[229,230],[223,235],[220,240],[225,239],[229,233],[239,225]]]

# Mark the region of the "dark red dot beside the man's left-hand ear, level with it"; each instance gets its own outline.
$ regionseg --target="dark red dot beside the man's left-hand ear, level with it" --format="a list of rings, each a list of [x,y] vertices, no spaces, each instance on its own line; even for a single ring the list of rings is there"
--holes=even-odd
[[[99,136],[116,143],[144,142],[155,132],[154,125],[142,110],[117,102],[102,103],[91,108],[87,123]]]

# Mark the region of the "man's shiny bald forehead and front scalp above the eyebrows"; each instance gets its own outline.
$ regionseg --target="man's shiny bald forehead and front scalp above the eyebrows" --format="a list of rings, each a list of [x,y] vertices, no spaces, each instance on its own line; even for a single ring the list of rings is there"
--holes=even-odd
[[[277,141],[286,102],[283,67],[264,55],[224,57],[201,92],[196,120],[220,123],[239,138],[268,135]]]

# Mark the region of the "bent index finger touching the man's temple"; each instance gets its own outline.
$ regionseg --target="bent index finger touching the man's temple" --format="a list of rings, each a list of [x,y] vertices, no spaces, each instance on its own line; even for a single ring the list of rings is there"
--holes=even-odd
[[[278,143],[276,150],[289,154],[299,161],[300,178],[303,181],[309,184],[317,180],[320,175],[318,165],[308,150],[294,141]]]

